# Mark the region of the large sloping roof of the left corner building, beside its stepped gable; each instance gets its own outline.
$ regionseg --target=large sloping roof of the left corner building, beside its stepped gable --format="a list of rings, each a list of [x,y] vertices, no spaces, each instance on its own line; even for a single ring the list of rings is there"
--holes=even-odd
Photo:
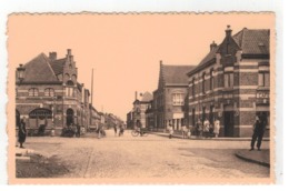
[[[44,53],[40,53],[24,64],[26,77],[23,82],[57,82],[59,81]]]

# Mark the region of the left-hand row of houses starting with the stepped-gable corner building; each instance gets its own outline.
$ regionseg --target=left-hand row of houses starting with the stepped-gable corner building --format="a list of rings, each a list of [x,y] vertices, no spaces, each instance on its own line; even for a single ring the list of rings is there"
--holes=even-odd
[[[40,53],[16,71],[16,125],[26,117],[28,130],[54,129],[78,124],[84,129],[106,125],[113,114],[99,112],[90,102],[90,91],[78,80],[78,68],[67,50],[64,58],[57,52]],[[116,121],[116,120],[114,120]]]

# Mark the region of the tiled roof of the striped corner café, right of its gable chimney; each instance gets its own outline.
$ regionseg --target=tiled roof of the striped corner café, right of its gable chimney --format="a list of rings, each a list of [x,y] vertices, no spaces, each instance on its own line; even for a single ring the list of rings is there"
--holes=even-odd
[[[232,36],[245,54],[268,54],[269,53],[269,29],[242,29]]]

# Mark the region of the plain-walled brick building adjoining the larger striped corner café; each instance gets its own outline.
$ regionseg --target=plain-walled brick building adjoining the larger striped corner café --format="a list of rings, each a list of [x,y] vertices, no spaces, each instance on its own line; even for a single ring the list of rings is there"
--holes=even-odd
[[[153,91],[155,128],[163,129],[169,122],[176,130],[185,119],[185,100],[188,93],[187,73],[193,66],[166,66],[160,61],[159,84]]]

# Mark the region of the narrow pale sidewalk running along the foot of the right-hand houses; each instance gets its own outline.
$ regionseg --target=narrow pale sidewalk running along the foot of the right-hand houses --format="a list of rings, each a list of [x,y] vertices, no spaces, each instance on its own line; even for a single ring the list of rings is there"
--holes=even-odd
[[[160,131],[149,131],[149,133],[151,134],[156,134],[156,135],[160,135],[160,137],[169,137],[169,133],[167,132],[160,132]],[[175,139],[182,139],[182,134],[181,132],[175,132],[172,134],[172,138]],[[191,140],[206,140],[206,141],[251,141],[251,138],[199,138],[196,135],[191,135],[190,138]],[[269,138],[263,138],[262,141],[270,141]]]

